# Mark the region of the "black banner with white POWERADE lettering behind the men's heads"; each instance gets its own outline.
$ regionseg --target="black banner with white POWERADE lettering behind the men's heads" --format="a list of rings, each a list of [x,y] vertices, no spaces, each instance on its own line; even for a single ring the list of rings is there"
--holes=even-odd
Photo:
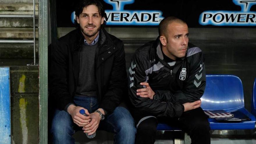
[[[77,1],[56,1],[57,26],[74,27]],[[189,27],[256,26],[256,0],[102,0],[106,27],[157,27],[176,16]]]

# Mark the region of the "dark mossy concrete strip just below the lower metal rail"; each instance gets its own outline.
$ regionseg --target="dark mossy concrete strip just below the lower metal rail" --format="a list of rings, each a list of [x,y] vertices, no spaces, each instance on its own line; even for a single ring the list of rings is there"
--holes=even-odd
[[[38,56],[38,43],[36,42],[36,56]],[[1,44],[0,58],[33,58],[34,44]]]

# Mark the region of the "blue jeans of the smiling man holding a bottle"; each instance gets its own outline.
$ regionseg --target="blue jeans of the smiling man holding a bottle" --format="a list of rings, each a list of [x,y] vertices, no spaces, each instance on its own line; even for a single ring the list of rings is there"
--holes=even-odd
[[[89,113],[98,109],[96,97],[74,97],[77,106],[84,107]],[[99,123],[99,130],[105,130],[114,133],[114,143],[133,144],[135,140],[136,128],[134,119],[130,112],[124,107],[118,106],[113,113],[106,115],[103,121]],[[51,125],[51,135],[54,144],[74,143],[72,135],[82,130],[74,124],[72,117],[66,111],[55,110]]]

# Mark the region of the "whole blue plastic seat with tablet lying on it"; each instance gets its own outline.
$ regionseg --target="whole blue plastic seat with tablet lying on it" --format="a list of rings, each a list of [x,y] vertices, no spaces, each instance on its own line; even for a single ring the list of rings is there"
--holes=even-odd
[[[234,75],[207,75],[205,93],[201,97],[204,110],[240,111],[251,120],[219,122],[209,118],[211,129],[254,129],[255,117],[244,107],[242,81]]]

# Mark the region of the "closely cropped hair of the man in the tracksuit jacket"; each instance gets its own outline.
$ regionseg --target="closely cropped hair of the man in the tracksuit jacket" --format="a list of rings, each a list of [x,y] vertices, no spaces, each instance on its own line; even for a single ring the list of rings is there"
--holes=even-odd
[[[162,21],[159,24],[159,27],[158,27],[159,36],[163,35],[163,36],[167,37],[168,24],[170,24],[171,22],[174,22],[174,21],[186,24],[186,22],[184,22],[182,19],[179,19],[177,17],[174,17],[174,16],[166,17],[166,18],[162,19]]]

